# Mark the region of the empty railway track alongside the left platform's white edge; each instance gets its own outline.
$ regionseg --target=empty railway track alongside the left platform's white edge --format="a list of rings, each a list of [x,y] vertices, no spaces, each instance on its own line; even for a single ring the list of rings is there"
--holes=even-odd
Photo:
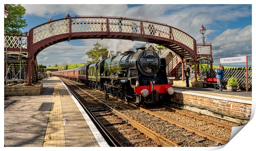
[[[64,79],[62,81],[84,109],[87,109],[87,112],[90,112],[90,115],[94,117],[94,121],[101,127],[101,131],[104,132],[112,146],[179,146],[125,116],[83,89],[74,86],[71,82]],[[76,90],[72,90],[70,86],[76,87]]]

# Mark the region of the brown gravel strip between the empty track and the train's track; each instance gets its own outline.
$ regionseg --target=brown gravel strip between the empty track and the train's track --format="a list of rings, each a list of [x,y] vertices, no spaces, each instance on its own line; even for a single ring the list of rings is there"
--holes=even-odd
[[[145,112],[142,112],[139,109],[128,107],[127,105],[125,105],[122,102],[119,102],[116,99],[110,98],[109,101],[106,101],[102,93],[99,93],[93,89],[87,88],[85,86],[83,86],[83,89],[85,89],[85,91],[95,96],[96,98],[102,100],[109,106],[115,109],[119,109],[126,116],[134,119],[135,121],[138,121],[142,125],[145,125],[147,128],[159,133],[160,135],[166,137],[167,139],[170,139],[173,142],[177,142],[177,143],[182,142],[181,146],[210,146],[215,144],[215,142],[211,140],[197,142],[196,139],[198,138],[204,139],[204,137],[201,137],[199,135],[192,135],[190,137],[187,137],[184,135],[186,133],[190,133],[187,130],[184,130],[184,129],[178,130],[180,129],[180,127],[174,124],[171,124],[167,121],[164,121],[160,118],[156,118],[155,116],[152,116]],[[123,107],[125,107],[125,109],[123,109]],[[174,131],[174,130],[178,130],[178,131]]]

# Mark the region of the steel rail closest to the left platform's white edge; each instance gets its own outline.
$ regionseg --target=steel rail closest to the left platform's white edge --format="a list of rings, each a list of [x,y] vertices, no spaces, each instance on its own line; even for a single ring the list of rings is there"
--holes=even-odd
[[[63,80],[63,79],[62,79]],[[66,80],[64,80],[66,81]],[[70,83],[69,81],[66,81],[68,83]],[[70,83],[71,84],[71,83]],[[73,85],[73,84],[72,84]],[[102,132],[104,133],[104,135],[109,139],[109,141],[111,142],[111,144],[115,147],[123,147],[123,145],[109,132],[109,130],[107,130],[107,128],[104,127],[104,125],[102,125],[102,123],[100,123],[100,121],[94,116],[94,114],[92,114],[92,112],[90,112],[89,109],[87,109],[83,103],[81,102],[81,100],[75,95],[75,93],[71,90],[71,88],[69,88],[67,86],[67,88],[69,89],[69,91],[72,93],[72,95],[76,98],[76,100],[78,100],[79,104],[83,107],[83,109],[87,112],[87,114],[90,116],[90,118],[95,121],[95,123],[98,125],[98,127],[100,128],[100,130],[102,130]]]

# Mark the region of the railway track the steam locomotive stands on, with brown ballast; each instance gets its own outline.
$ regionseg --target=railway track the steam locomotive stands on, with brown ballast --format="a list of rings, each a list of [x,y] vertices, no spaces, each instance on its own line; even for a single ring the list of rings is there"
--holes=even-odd
[[[116,114],[123,120],[128,121],[129,124],[133,123],[131,124],[133,126],[134,123],[145,125],[152,133],[158,133],[160,138],[165,138],[165,142],[171,140],[173,146],[218,146],[228,143],[232,128],[230,124],[182,112],[167,106],[144,109],[113,96],[111,96],[111,100],[106,101],[104,93],[101,91],[88,88],[74,81],[63,80],[69,84],[73,83],[73,86],[91,95],[95,100],[105,104],[108,103],[112,112],[106,112],[106,114]],[[150,120],[147,121],[147,119]],[[139,130],[137,127],[136,129]],[[142,132],[145,134],[143,130]],[[149,138],[152,139],[152,136]],[[155,139],[152,140],[155,141]],[[159,142],[157,144],[164,146]]]

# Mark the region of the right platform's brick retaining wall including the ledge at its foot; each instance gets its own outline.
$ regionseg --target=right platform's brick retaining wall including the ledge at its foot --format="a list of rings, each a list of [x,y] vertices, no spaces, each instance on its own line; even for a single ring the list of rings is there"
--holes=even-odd
[[[206,95],[200,93],[175,91],[172,95],[171,101],[173,103],[183,104],[184,109],[189,109],[194,112],[201,112],[207,115],[227,119],[229,121],[246,123],[251,116],[251,101],[239,100],[232,98],[224,98],[215,95]],[[185,105],[187,104],[187,105]],[[191,107],[197,106],[197,107]],[[203,107],[206,109],[199,109]],[[223,115],[213,114],[207,109],[211,109],[216,112],[223,113]],[[226,115],[225,115],[226,114]],[[231,116],[237,116],[239,118],[232,118]],[[244,119],[243,119],[244,118]]]

